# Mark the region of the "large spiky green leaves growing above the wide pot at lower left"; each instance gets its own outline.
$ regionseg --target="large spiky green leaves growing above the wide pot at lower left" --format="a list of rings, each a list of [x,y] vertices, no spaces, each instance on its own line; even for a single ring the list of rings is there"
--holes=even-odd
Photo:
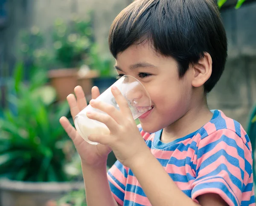
[[[0,117],[0,175],[22,181],[66,181],[66,163],[73,143],[59,123],[66,116],[66,102],[55,104],[55,90],[45,86],[47,74],[34,69],[29,83],[23,82],[23,64],[17,64],[9,83],[8,101]],[[71,177],[70,177],[71,178]]]

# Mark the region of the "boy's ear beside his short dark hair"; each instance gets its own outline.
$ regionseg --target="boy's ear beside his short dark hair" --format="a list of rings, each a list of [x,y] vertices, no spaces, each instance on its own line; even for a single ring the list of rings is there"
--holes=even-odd
[[[193,65],[192,86],[200,87],[210,78],[212,74],[212,57],[205,52],[204,57]]]

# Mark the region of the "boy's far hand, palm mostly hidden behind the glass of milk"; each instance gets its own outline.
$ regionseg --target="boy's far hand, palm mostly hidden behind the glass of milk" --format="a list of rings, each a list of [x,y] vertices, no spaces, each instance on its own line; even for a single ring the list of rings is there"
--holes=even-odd
[[[81,86],[77,86],[75,89],[75,94],[69,94],[67,96],[67,101],[70,106],[70,112],[73,120],[82,109],[87,106],[87,102],[84,96],[83,89]],[[99,96],[99,89],[97,87],[92,88],[92,99]],[[108,154],[111,152],[111,148],[102,144],[96,146],[87,143],[76,131],[76,129],[70,124],[66,117],[61,117],[60,123],[65,129],[69,137],[73,140],[76,150],[81,157],[83,164],[87,166],[99,166],[106,164]]]

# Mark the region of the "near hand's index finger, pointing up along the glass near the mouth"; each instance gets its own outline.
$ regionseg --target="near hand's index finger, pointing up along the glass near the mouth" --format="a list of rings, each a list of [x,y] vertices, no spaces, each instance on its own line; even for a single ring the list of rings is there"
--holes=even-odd
[[[119,105],[120,111],[123,114],[132,116],[131,115],[131,110],[128,106],[128,102],[125,99],[125,97],[122,95],[120,90],[116,86],[112,86],[111,87],[111,92],[112,92],[113,96],[115,97],[116,103]]]

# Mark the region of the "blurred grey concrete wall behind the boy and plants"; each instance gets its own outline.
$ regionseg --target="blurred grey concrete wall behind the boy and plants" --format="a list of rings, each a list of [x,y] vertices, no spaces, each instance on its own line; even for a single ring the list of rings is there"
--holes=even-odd
[[[15,62],[20,29],[35,25],[47,34],[57,17],[68,20],[74,12],[85,17],[87,11],[95,11],[96,41],[102,53],[108,53],[109,27],[128,3],[131,0],[9,0],[10,22],[5,41],[10,67]],[[256,103],[256,2],[221,13],[229,41],[229,59],[221,80],[209,94],[209,106],[223,110],[246,126],[250,109]]]

